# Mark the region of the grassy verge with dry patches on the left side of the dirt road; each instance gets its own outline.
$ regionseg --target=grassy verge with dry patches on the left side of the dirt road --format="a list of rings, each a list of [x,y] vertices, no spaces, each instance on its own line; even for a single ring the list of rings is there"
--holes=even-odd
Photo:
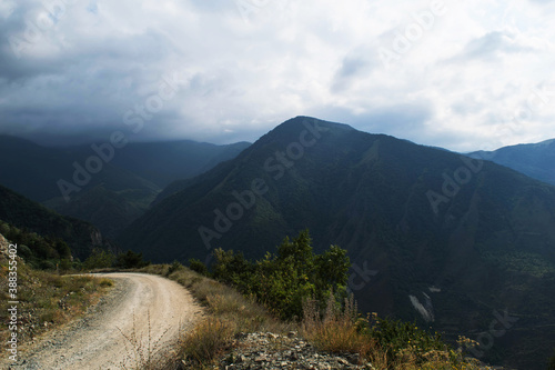
[[[112,281],[90,276],[59,276],[38,271],[18,259],[18,340],[29,342],[39,334],[83,316],[95,304]],[[0,257],[0,322],[8,322],[8,261]],[[0,327],[0,341],[8,340],[7,324]]]

